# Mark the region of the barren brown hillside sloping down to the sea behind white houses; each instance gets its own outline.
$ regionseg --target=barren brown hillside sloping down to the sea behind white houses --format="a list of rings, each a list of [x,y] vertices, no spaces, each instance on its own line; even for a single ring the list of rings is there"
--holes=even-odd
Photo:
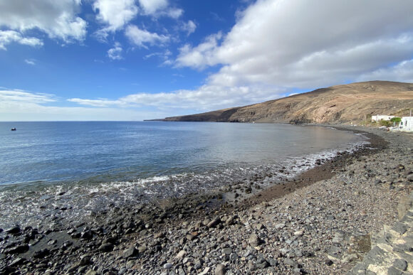
[[[370,81],[338,85],[291,97],[214,112],[167,117],[174,122],[344,123],[375,114],[406,116],[413,109],[413,83]]]

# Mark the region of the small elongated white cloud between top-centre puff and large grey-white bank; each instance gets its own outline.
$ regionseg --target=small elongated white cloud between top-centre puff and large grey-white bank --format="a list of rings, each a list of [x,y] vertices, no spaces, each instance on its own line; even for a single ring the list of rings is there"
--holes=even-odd
[[[149,45],[163,45],[169,41],[169,36],[164,36],[163,34],[150,33],[146,30],[141,30],[137,26],[130,25],[127,26],[125,35],[130,41],[141,48],[147,48]]]

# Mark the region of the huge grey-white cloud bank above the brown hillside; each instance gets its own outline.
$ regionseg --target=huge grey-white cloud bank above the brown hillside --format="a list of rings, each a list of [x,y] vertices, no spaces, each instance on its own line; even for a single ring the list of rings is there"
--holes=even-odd
[[[411,60],[412,10],[409,0],[258,0],[222,41],[214,35],[184,45],[175,66],[221,65],[209,85],[308,88],[357,80]]]

